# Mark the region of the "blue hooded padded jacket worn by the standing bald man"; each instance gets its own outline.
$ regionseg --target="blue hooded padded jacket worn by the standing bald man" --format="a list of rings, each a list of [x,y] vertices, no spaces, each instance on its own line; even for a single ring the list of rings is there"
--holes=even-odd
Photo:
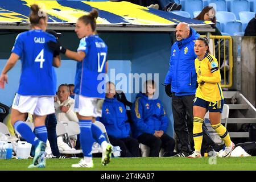
[[[171,91],[176,96],[193,95],[196,93],[196,54],[194,45],[200,35],[190,28],[187,39],[176,41],[171,48],[170,67],[164,84],[171,84]]]

